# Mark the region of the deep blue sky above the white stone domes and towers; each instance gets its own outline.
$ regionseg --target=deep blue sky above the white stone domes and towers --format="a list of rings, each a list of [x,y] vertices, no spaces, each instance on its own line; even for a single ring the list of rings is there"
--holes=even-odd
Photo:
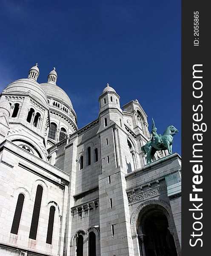
[[[78,128],[96,119],[106,84],[120,104],[138,99],[151,130],[173,124],[181,154],[181,10],[169,0],[0,0],[0,89],[26,78],[38,82],[56,67]]]

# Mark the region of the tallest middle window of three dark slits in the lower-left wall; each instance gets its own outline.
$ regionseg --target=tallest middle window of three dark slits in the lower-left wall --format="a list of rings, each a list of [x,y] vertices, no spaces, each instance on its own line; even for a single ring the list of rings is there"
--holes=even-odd
[[[43,195],[43,187],[38,185],[36,197],[34,201],[34,210],[32,214],[31,228],[29,233],[29,238],[34,240],[36,240],[36,237],[37,237],[37,227],[38,227],[38,221],[40,216],[40,206],[41,206],[42,195]]]

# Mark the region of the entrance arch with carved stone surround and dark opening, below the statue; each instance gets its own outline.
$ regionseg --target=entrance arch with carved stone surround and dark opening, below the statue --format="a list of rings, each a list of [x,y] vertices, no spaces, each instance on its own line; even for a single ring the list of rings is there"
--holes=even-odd
[[[164,201],[141,203],[131,215],[131,233],[136,256],[180,256],[171,207]]]

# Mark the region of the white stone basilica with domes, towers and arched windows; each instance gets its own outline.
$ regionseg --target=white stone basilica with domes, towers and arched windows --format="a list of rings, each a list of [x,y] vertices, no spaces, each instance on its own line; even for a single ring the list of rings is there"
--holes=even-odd
[[[107,84],[78,130],[55,68],[39,72],[0,94],[0,256],[180,256],[181,158],[146,164],[139,102]]]

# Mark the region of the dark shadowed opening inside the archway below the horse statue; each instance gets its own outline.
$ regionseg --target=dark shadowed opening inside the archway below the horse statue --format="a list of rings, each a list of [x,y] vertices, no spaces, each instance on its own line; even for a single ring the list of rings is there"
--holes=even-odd
[[[138,224],[142,256],[177,256],[174,237],[168,230],[168,219],[162,210],[149,208],[138,218]]]

